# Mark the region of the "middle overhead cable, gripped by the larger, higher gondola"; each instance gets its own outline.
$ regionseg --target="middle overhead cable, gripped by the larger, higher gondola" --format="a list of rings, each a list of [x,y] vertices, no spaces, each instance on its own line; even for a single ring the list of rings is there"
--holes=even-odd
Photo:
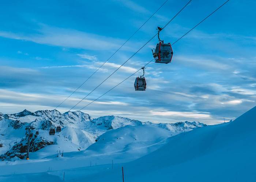
[[[178,13],[176,13],[176,15],[170,20],[168,21],[167,24],[165,24],[165,26],[163,28],[165,28],[192,0],[189,0],[188,3],[181,8],[180,11],[178,11]],[[163,29],[162,28],[162,29]],[[135,54],[137,54],[144,46],[147,45],[147,43],[149,43],[155,36],[157,36],[158,33],[156,33],[150,40],[148,40],[142,47],[139,48],[138,51],[136,51],[129,59],[127,59],[120,67],[118,67],[112,74],[110,74],[105,80],[103,80],[97,87],[95,87],[89,94],[87,94],[83,99],[81,99],[78,103],[75,104],[75,106],[73,106],[70,110],[72,110],[74,107],[76,107],[80,102],[82,102],[85,98],[87,98],[87,96],[89,96],[94,90],[96,90],[99,86],[101,86],[102,83],[104,83],[107,79],[109,79],[110,76],[112,76],[117,70],[119,70],[125,63],[127,63]]]

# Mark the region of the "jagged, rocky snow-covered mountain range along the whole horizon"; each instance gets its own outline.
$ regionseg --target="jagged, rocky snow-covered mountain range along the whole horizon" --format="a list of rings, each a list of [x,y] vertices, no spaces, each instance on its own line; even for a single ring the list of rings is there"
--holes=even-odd
[[[96,119],[81,111],[69,111],[61,114],[57,110],[24,110],[16,114],[0,113],[0,158],[23,158],[27,148],[28,133],[26,126],[33,126],[30,136],[32,158],[43,158],[56,154],[56,151],[72,152],[87,149],[98,141],[102,134],[125,126],[150,125],[163,128],[167,136],[206,126],[199,122],[160,123],[140,122],[120,116],[102,116]],[[50,128],[61,127],[61,132],[49,135]],[[36,134],[36,131],[39,134]],[[126,144],[129,145],[127,141]],[[100,143],[100,142],[98,142]],[[106,145],[107,143],[105,143]],[[98,145],[98,144],[97,144]]]

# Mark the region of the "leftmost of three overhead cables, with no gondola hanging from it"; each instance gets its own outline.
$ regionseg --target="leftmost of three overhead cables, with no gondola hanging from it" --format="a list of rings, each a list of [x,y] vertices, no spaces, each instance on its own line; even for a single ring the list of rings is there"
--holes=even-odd
[[[165,3],[167,3],[167,1],[169,0],[166,0],[150,17],[148,17],[148,19],[103,64],[101,64],[101,66],[96,71],[93,72],[93,74],[91,74],[78,88],[76,88],[76,90],[74,90],[67,98],[65,98],[55,109],[57,109],[61,104],[63,104],[71,95],[73,95],[80,87],[82,87],[83,84],[86,83],[87,80],[89,80],[106,62],[108,62],[108,60],[112,58],[112,56],[115,55],[117,51],[119,51],[124,46],[124,44],[126,44],[133,37],[133,35],[135,35],[140,30],[140,28],[142,28],[148,22],[148,20],[150,20],[151,17],[153,17],[155,13],[157,13],[159,9],[163,7],[163,5],[165,5]]]

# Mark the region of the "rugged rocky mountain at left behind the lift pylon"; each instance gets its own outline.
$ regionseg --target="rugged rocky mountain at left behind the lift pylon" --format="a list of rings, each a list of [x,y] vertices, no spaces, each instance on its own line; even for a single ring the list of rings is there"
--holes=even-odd
[[[98,134],[90,134],[84,131],[87,122],[92,120],[91,116],[80,112],[65,112],[61,114],[57,110],[43,110],[30,112],[24,110],[17,114],[0,115],[0,158],[10,159],[11,157],[23,157],[27,145],[26,126],[33,126],[30,138],[30,152],[35,152],[49,145],[48,152],[31,155],[33,157],[45,157],[56,153],[56,150],[79,151],[86,149],[95,142]],[[49,136],[49,129],[61,126],[63,131]],[[39,131],[39,135],[35,134]],[[1,155],[2,154],[2,155]]]

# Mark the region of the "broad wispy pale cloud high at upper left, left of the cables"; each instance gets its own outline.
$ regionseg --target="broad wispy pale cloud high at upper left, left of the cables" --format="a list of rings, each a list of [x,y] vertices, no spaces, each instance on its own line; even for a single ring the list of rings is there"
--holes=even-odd
[[[50,27],[45,24],[39,24],[39,26],[38,33],[25,34],[0,31],[0,36],[10,39],[33,41],[39,44],[87,50],[113,50],[117,49],[123,43],[123,40],[120,39],[74,29]]]

